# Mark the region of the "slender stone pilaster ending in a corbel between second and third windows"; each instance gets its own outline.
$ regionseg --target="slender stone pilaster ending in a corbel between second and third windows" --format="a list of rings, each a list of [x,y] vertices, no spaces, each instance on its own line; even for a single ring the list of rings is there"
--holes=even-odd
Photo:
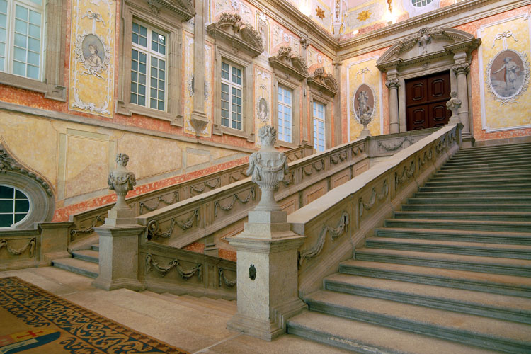
[[[195,134],[205,130],[208,117],[205,113],[205,4],[203,0],[195,1],[195,18],[193,28],[193,109],[190,122]]]

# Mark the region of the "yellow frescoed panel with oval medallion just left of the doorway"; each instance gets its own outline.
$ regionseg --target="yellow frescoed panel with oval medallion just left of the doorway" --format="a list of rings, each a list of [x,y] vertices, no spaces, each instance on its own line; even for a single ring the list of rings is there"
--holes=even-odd
[[[357,139],[363,129],[362,120],[370,118],[367,125],[371,135],[383,134],[382,73],[376,67],[378,57],[353,59],[346,66],[346,114],[349,140]]]

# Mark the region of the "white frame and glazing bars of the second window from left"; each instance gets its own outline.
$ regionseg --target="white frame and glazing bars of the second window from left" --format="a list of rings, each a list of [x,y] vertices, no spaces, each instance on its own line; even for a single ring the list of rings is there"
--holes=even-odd
[[[132,21],[131,28],[134,27],[134,25],[137,24],[139,26],[143,26],[144,28],[147,28],[147,47],[142,47],[142,45],[139,45],[133,41],[131,41],[131,56],[132,51],[136,50],[137,52],[142,52],[147,56],[146,59],[146,91],[145,91],[145,105],[141,105],[138,102],[131,104],[139,105],[144,108],[149,108],[152,110],[158,110],[160,112],[166,112],[168,110],[168,72],[169,72],[169,65],[168,65],[168,50],[169,50],[169,34],[165,33],[163,30],[159,30],[158,28],[154,28],[151,25],[148,25],[147,23],[144,23],[142,21],[138,21],[137,19],[134,19]],[[156,33],[159,33],[159,35],[164,35],[165,37],[165,50],[164,55],[160,52],[157,52],[156,50],[152,50],[152,32],[155,31]],[[159,98],[155,98],[157,104],[156,108],[153,108],[151,105],[152,98],[152,90],[154,89],[151,85],[152,82],[152,59],[156,58],[159,60],[164,60],[164,109],[159,109]],[[131,57],[131,64],[132,64],[132,57]],[[134,72],[133,68],[131,67],[130,75]],[[131,86],[133,82],[131,81]],[[156,91],[159,92],[160,89],[156,88]],[[130,98],[132,98],[132,91],[130,90]],[[138,96],[138,86],[137,86],[137,96]]]

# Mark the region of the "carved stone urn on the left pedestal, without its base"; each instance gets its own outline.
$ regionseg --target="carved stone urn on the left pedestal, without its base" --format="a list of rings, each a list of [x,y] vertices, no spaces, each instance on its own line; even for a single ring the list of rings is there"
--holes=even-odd
[[[118,196],[112,210],[131,210],[127,202],[125,202],[125,195],[135,188],[137,181],[135,173],[127,170],[127,162],[129,162],[127,154],[120,153],[116,155],[116,169],[110,172],[107,178],[109,189],[114,190]]]

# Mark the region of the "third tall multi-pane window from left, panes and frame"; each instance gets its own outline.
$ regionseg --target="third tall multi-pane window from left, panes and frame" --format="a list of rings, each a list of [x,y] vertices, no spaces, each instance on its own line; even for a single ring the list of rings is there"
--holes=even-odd
[[[241,68],[222,62],[221,69],[221,122],[224,127],[241,130]]]

